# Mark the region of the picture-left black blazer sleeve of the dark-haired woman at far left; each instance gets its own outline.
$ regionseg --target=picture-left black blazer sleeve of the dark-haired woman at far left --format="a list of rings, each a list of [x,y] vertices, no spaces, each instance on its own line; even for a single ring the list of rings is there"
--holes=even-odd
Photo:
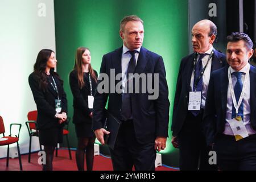
[[[39,88],[39,83],[33,73],[28,77],[28,83],[38,110],[48,115],[48,117],[54,118],[56,110],[47,102],[43,90]]]

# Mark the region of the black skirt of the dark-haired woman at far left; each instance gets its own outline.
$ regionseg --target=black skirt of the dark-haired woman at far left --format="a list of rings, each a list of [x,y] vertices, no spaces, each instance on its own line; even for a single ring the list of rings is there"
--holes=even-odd
[[[57,143],[63,143],[63,127],[39,130],[39,141],[43,146],[56,146]]]

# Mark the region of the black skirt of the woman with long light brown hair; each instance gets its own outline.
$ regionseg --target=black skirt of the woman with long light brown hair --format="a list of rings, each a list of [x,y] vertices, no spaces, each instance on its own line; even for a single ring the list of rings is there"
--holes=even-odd
[[[92,131],[92,123],[89,123],[89,122],[75,123],[75,127],[76,127],[77,138],[95,137]]]

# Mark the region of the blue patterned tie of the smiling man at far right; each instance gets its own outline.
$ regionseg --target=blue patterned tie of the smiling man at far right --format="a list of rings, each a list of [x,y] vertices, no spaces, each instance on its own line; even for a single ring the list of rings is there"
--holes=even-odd
[[[237,100],[237,104],[238,104],[238,100],[240,98],[242,89],[243,89],[243,82],[242,82],[242,72],[234,72],[232,73],[232,75],[237,77],[237,82],[236,85],[234,86],[234,94],[236,96],[236,100]],[[237,115],[241,115],[242,119],[243,119],[243,100],[241,102],[241,105],[238,109],[238,114]],[[232,118],[236,117],[236,109],[234,107],[233,104],[233,108],[232,108]]]

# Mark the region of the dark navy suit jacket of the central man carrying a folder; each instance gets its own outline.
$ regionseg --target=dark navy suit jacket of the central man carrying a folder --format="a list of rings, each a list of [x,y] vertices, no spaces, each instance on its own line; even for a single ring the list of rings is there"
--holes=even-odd
[[[100,73],[106,73],[109,77],[110,69],[115,69],[115,75],[122,73],[121,58],[122,47],[104,55],[102,58]],[[152,142],[152,140],[158,136],[168,137],[170,102],[168,100],[166,71],[162,57],[142,47],[141,52],[139,53],[135,73],[159,73],[158,99],[148,100],[148,95],[150,95],[148,92],[144,94],[131,94],[134,130],[138,142]],[[115,85],[118,82],[119,80],[115,81]],[[141,88],[141,81],[139,86]],[[93,130],[104,127],[104,108],[107,100],[109,113],[112,113],[118,119],[122,119],[122,94],[100,94],[96,90],[93,105]]]

